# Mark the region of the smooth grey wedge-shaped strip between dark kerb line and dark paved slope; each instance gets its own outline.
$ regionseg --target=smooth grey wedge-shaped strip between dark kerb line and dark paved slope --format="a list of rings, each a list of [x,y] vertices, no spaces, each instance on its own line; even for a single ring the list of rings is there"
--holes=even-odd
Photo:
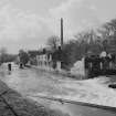
[[[59,113],[62,113],[63,116],[116,116],[116,113],[102,109],[102,108],[96,108],[96,107],[89,107],[89,106],[84,106],[84,105],[75,105],[75,104],[70,104],[70,103],[60,103],[60,102],[54,102],[50,99],[44,99],[44,98],[33,98],[34,101],[38,101],[39,103],[43,104],[44,106],[59,110]]]

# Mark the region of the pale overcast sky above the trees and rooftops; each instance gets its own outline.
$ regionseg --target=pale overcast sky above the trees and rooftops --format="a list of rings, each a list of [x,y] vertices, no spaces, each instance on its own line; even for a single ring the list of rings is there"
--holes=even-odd
[[[0,0],[0,48],[38,50],[60,35],[61,17],[70,38],[116,18],[116,0]]]

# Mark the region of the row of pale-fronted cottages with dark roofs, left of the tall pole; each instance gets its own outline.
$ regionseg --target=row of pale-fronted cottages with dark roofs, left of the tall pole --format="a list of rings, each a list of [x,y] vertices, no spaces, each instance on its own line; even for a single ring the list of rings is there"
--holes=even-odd
[[[61,54],[61,53],[59,53]],[[29,51],[31,64],[36,65],[43,70],[59,70],[61,71],[61,60],[60,56],[55,52],[46,51]],[[57,60],[59,59],[59,60]]]

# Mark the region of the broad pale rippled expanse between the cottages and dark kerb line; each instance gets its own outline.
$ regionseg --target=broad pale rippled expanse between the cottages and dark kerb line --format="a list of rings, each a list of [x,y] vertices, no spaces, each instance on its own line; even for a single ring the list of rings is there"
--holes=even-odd
[[[108,88],[107,84],[110,81],[106,77],[76,81],[34,68],[12,71],[11,75],[0,74],[8,86],[25,96],[43,94],[50,97],[116,107],[116,91]]]

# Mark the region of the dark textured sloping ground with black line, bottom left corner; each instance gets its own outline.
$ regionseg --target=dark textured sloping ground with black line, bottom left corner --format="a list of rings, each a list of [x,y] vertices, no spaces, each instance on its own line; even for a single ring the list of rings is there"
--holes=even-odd
[[[0,81],[0,116],[63,116],[22,97]]]

